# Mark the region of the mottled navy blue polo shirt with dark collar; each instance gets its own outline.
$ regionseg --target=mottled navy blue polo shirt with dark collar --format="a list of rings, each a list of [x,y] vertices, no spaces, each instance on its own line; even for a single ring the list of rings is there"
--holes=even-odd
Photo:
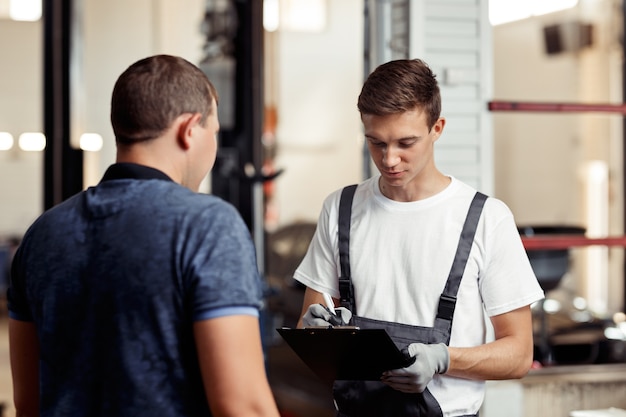
[[[125,163],[33,223],[8,302],[37,327],[42,416],[209,416],[193,322],[261,294],[232,205]]]

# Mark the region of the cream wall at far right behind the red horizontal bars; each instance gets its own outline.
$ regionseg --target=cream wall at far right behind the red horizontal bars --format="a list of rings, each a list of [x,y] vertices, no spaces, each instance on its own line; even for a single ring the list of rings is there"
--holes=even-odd
[[[618,6],[613,0],[582,0],[568,11],[494,27],[494,99],[621,103]],[[573,20],[593,25],[593,45],[547,55],[543,27]],[[621,115],[493,112],[493,121],[495,195],[511,207],[518,225],[587,228],[583,172],[590,161],[600,160],[609,169],[608,233],[623,234]],[[592,293],[600,291],[599,310],[621,309],[623,249],[602,255],[609,262],[607,271],[587,272],[589,251],[571,252],[572,268],[559,288],[567,293],[565,300],[570,302],[570,292],[593,299]]]

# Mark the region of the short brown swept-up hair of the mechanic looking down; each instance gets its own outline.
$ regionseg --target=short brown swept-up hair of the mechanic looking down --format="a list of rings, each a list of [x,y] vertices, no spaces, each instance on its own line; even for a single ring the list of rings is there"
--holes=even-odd
[[[421,108],[431,129],[441,114],[436,76],[424,61],[400,59],[380,65],[363,84],[361,114],[384,116]]]

